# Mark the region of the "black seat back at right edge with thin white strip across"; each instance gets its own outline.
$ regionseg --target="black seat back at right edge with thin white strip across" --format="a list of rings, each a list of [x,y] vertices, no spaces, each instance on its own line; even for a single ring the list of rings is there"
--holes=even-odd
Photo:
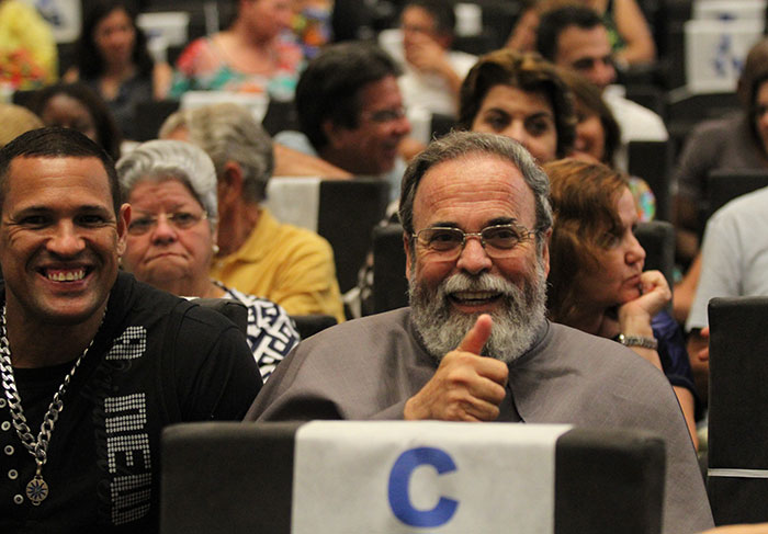
[[[768,297],[709,303],[707,489],[715,524],[768,521]]]

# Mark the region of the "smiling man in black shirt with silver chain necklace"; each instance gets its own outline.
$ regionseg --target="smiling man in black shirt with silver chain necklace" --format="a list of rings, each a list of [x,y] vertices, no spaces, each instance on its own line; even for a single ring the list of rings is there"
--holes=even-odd
[[[260,389],[233,323],[118,273],[129,219],[82,134],[0,150],[1,532],[157,532],[162,427]]]

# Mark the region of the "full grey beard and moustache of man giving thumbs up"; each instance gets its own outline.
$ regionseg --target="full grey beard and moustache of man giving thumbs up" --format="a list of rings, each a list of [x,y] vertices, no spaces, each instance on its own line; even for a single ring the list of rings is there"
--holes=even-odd
[[[495,292],[501,302],[490,317],[490,338],[482,354],[510,364],[526,353],[537,340],[546,317],[546,274],[537,262],[534,276],[526,279],[523,288],[508,280],[483,273],[473,276],[458,273],[443,280],[436,289],[410,276],[411,319],[427,351],[439,362],[455,350],[481,314],[464,314],[455,309],[449,295],[459,291]]]

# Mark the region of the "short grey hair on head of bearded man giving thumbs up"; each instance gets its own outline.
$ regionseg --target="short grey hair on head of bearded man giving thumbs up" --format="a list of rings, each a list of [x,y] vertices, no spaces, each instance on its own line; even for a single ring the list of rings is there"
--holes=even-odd
[[[501,135],[476,132],[453,132],[433,140],[408,164],[403,175],[399,208],[400,221],[406,234],[414,234],[414,200],[416,198],[416,190],[427,171],[443,161],[463,158],[472,154],[493,155],[509,161],[520,170],[535,200],[537,223],[533,230],[541,245],[541,236],[552,227],[550,179],[537,166],[529,151],[518,141]]]

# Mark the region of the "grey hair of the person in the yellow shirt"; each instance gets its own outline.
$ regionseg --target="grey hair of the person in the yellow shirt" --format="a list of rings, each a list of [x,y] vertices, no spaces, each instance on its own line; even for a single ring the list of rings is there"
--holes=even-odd
[[[249,202],[267,197],[267,182],[274,171],[272,138],[245,106],[222,103],[181,110],[160,128],[160,138],[185,128],[189,140],[205,150],[221,179],[228,161],[244,173],[244,196]]]

